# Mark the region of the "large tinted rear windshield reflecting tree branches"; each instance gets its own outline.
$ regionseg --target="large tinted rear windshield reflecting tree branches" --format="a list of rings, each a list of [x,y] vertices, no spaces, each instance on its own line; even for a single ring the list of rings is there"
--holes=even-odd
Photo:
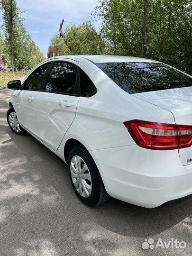
[[[192,86],[191,77],[161,63],[122,62],[96,65],[130,94]]]

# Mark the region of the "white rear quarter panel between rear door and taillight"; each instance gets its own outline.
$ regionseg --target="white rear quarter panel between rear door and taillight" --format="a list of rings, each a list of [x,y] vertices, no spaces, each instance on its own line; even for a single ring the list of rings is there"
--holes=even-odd
[[[66,135],[81,137],[88,150],[134,145],[124,121],[141,119],[174,124],[170,111],[121,90],[99,68],[82,68],[98,92],[90,98],[80,98],[76,117]]]

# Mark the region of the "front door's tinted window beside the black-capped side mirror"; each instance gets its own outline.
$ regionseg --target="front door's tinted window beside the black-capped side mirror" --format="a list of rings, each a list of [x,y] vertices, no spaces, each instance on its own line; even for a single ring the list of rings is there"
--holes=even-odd
[[[46,69],[49,66],[48,64],[38,67],[26,80],[24,85],[24,90],[38,91],[40,90],[41,82],[43,76],[46,73]]]

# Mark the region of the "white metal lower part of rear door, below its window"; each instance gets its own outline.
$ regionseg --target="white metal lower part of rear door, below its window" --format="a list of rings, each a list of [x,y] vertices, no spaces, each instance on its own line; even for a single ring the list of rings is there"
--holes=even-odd
[[[55,151],[75,118],[78,101],[75,96],[42,91],[37,95],[36,135]],[[67,102],[70,107],[65,106]]]

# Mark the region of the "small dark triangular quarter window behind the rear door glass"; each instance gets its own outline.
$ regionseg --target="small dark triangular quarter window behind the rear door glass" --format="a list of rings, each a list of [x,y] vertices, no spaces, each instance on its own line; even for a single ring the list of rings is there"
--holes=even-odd
[[[80,68],[80,86],[81,86],[81,96],[91,97],[97,93],[97,88],[89,78],[89,76],[82,71]]]

